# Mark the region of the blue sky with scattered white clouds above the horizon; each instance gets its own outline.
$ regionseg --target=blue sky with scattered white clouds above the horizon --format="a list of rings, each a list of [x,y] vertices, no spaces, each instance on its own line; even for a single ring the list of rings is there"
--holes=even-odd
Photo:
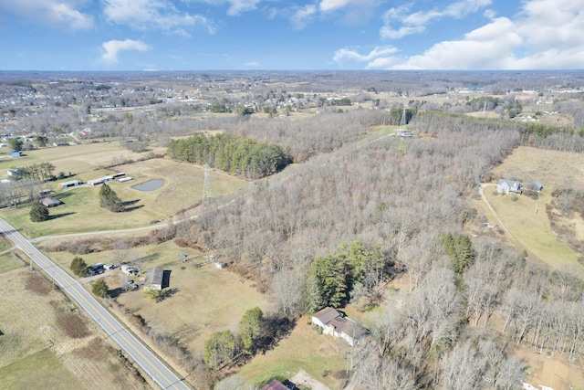
[[[0,0],[2,70],[582,69],[584,0]]]

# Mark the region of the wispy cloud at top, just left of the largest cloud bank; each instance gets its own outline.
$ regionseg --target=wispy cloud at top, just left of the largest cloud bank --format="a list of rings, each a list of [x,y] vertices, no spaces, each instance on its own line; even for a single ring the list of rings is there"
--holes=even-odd
[[[412,14],[408,14],[409,5],[392,7],[383,15],[384,26],[381,27],[380,37],[384,39],[400,39],[412,34],[419,34],[425,31],[425,25],[433,19],[442,17],[462,18],[490,4],[491,0],[462,0],[447,5],[442,10],[432,9]],[[399,27],[393,27],[392,25],[398,25]]]

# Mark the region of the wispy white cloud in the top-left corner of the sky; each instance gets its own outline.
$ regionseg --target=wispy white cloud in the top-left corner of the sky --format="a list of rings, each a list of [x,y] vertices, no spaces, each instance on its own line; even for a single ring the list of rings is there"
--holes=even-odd
[[[93,27],[93,18],[78,11],[81,0],[19,0],[0,1],[0,13],[25,16],[54,27],[79,30]]]

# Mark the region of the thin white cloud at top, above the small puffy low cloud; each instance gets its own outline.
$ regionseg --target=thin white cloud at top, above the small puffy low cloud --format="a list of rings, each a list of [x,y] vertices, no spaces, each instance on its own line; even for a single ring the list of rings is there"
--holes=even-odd
[[[161,29],[188,36],[185,27],[203,26],[214,34],[214,26],[204,16],[182,13],[168,0],[105,0],[106,18],[136,29]]]

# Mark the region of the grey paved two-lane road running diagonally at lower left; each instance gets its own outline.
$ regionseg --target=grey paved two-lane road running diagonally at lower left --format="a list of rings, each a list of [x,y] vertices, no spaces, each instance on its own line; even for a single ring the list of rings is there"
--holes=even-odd
[[[76,300],[89,317],[96,321],[115,343],[120,345],[120,348],[141,367],[142,371],[151,376],[154,383],[163,389],[190,389],[177,374],[174,374],[166,364],[162,363],[158,356],[141,343],[110,311],[107,311],[88,290],[85,290],[77,279],[60,269],[57,264],[47,258],[26,237],[2,218],[0,218],[0,231],[5,234],[5,237],[12,240],[16,247],[24,251],[39,269],[54,279],[61,290],[66,291],[71,298]]]

